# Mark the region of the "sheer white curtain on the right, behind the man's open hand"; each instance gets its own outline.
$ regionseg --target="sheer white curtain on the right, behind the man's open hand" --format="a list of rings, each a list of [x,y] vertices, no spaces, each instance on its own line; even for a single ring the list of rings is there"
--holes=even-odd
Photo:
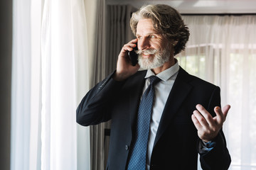
[[[183,16],[191,31],[181,67],[220,86],[231,105],[224,132],[230,169],[256,169],[256,16]]]

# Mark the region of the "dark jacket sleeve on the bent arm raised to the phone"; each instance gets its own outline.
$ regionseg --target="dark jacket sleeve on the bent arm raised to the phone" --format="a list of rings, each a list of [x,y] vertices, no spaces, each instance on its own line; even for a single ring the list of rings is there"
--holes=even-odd
[[[112,105],[117,100],[118,91],[124,84],[124,81],[114,81],[112,74],[94,86],[82,98],[76,110],[78,124],[97,125],[111,119]]]

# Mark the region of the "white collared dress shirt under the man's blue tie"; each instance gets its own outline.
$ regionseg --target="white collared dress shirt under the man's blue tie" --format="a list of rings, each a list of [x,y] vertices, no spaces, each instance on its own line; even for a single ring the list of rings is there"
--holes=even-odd
[[[174,66],[170,67],[169,69],[164,70],[163,72],[156,75],[156,77],[159,77],[161,81],[157,83],[154,86],[155,92],[154,92],[154,103],[151,113],[151,121],[150,121],[150,130],[149,130],[149,143],[148,143],[148,149],[147,149],[147,156],[146,156],[146,169],[149,169],[150,165],[150,159],[151,159],[151,153],[154,145],[154,140],[156,138],[156,132],[159,127],[159,122],[161,119],[161,115],[164,111],[164,106],[166,104],[167,98],[171,92],[172,86],[174,86],[174,81],[178,74],[178,61],[176,61],[176,64]],[[149,77],[152,75],[155,75],[154,72],[151,71],[151,69],[148,69],[146,72],[146,82],[144,85],[143,93],[146,90],[146,88],[149,86]]]

